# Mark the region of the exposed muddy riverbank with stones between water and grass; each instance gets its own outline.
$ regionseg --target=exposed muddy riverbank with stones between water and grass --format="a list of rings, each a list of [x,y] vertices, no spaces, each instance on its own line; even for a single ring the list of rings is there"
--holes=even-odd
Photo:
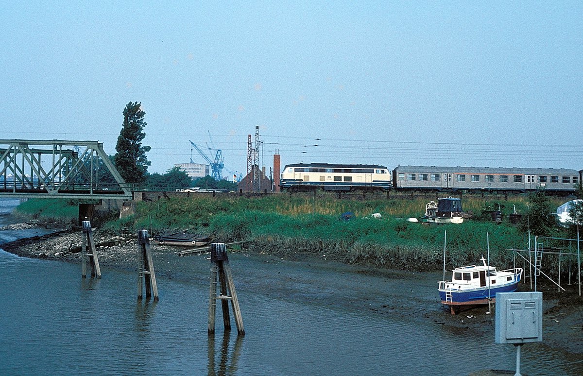
[[[29,228],[26,224],[21,227]],[[96,230],[94,239],[104,277],[107,268],[137,269],[134,233]],[[56,231],[0,245],[19,256],[72,263],[80,263],[81,247],[80,229]],[[208,283],[208,255],[180,257],[176,252],[181,249],[152,243],[157,276]],[[487,307],[454,316],[439,303],[436,282],[442,278],[441,271],[391,270],[367,263],[348,265],[347,258],[342,255],[277,250],[254,243],[245,243],[229,251],[237,286],[240,286],[237,288],[293,301],[391,315],[419,322],[419,325],[440,326],[458,335],[493,341],[494,312],[487,314]],[[368,275],[375,282],[354,283],[353,275]],[[529,287],[529,284],[521,284],[520,290],[528,291]],[[554,285],[539,281],[545,310],[544,342],[529,346],[563,349],[583,361],[583,300],[577,295],[577,285],[564,287],[567,292],[558,293]]]

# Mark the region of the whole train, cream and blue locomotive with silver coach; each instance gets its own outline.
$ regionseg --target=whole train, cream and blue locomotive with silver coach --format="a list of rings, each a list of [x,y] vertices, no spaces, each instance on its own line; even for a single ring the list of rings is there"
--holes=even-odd
[[[288,164],[280,187],[289,191],[382,190],[528,192],[545,189],[569,193],[581,184],[583,170],[566,168],[503,168],[397,166],[377,164]]]

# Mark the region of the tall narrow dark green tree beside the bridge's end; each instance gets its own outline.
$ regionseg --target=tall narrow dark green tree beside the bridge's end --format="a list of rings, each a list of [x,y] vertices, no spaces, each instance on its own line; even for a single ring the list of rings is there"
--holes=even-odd
[[[142,140],[146,136],[143,132],[146,122],[141,103],[129,102],[124,108],[124,125],[115,145],[115,167],[125,182],[131,184],[143,184],[146,180],[147,160],[146,153],[152,149],[150,146],[142,146]]]

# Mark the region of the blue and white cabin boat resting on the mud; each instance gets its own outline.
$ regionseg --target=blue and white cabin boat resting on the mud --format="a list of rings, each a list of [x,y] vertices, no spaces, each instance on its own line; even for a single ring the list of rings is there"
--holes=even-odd
[[[438,283],[441,304],[449,305],[451,314],[455,315],[461,308],[488,304],[496,301],[496,293],[516,291],[522,277],[522,268],[498,271],[494,266],[469,265],[452,270],[452,279]]]

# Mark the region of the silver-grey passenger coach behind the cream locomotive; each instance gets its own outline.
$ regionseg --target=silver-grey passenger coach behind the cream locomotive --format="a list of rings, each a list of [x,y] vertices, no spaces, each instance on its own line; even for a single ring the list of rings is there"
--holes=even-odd
[[[573,192],[581,171],[566,168],[398,166],[393,170],[396,189],[436,191],[491,190]]]

